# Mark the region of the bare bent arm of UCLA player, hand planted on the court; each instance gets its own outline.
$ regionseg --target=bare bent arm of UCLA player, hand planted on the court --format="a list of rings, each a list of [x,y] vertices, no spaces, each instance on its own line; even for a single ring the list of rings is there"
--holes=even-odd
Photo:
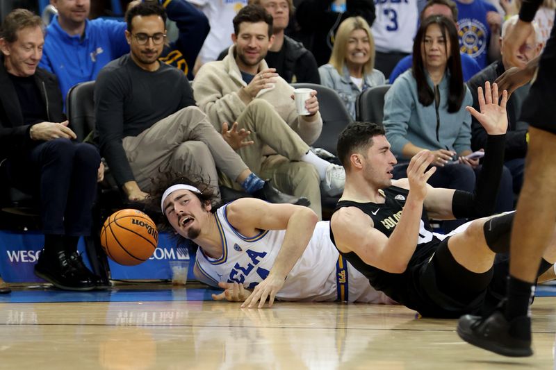
[[[309,244],[318,217],[310,208],[300,205],[272,204],[252,198],[230,203],[227,216],[230,224],[243,235],[251,235],[255,230],[286,230],[270,273],[241,305],[252,308],[259,302],[258,307],[262,308],[268,298],[268,306],[272,307],[286,276]]]

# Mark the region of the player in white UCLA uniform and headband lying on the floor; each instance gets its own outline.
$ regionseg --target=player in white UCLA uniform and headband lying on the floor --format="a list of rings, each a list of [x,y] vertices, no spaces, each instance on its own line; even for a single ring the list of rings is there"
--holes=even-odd
[[[213,298],[261,308],[284,301],[394,303],[340,257],[329,223],[309,208],[243,198],[214,210],[213,190],[188,178],[159,187],[175,233],[199,245],[195,276],[222,287]],[[253,291],[251,294],[250,290]]]

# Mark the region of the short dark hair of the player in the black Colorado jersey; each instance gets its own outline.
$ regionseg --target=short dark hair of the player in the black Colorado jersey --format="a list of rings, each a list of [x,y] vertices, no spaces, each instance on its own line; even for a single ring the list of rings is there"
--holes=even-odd
[[[386,135],[384,126],[371,122],[353,122],[348,124],[338,137],[336,153],[345,169],[350,165],[350,155],[373,145],[373,137]]]

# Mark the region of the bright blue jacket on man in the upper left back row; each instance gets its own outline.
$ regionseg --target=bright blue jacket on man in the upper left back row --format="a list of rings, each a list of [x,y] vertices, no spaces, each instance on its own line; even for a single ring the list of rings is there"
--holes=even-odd
[[[68,35],[58,23],[58,15],[47,27],[40,67],[56,74],[65,99],[70,87],[97,78],[102,67],[129,53],[124,22],[106,19],[85,21],[85,33]]]

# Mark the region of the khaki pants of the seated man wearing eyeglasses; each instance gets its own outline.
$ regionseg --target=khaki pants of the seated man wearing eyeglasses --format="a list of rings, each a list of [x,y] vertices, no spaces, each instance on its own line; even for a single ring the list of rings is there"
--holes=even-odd
[[[194,106],[161,119],[138,136],[124,137],[122,144],[142,190],[148,190],[151,179],[160,172],[174,171],[201,176],[218,191],[216,168],[234,180],[247,169],[206,115]]]

